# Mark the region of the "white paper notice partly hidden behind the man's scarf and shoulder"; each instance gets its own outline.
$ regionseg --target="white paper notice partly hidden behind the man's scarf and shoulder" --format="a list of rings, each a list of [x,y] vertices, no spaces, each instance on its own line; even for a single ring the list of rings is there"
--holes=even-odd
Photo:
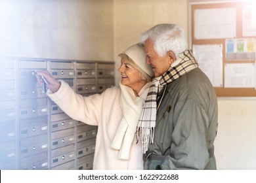
[[[208,76],[213,87],[223,87],[222,44],[194,44],[193,54],[200,69]]]

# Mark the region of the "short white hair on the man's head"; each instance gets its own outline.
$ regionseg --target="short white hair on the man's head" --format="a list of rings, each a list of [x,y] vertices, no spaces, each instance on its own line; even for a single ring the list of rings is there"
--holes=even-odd
[[[152,39],[154,50],[159,56],[165,56],[171,51],[176,58],[188,49],[188,42],[181,25],[158,24],[141,34],[140,41],[145,42]]]

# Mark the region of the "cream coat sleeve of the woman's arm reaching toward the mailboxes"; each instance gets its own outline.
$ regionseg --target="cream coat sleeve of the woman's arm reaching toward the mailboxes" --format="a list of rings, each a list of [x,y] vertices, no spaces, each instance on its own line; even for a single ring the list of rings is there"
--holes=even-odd
[[[104,95],[91,95],[83,97],[74,92],[63,80],[55,93],[47,91],[47,95],[54,101],[70,118],[89,125],[98,125],[102,112],[102,99]]]

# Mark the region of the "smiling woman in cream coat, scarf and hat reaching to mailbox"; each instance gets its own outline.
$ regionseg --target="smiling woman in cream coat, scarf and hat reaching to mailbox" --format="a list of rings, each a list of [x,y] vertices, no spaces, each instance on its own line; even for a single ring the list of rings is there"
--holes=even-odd
[[[142,147],[135,141],[142,105],[152,81],[142,44],[134,44],[119,54],[119,87],[83,97],[48,71],[37,72],[47,80],[47,95],[71,118],[98,125],[93,169],[143,169]]]

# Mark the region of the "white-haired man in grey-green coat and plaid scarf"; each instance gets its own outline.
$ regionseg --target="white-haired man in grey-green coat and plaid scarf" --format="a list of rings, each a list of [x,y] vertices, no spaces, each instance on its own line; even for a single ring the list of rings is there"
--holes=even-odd
[[[217,169],[217,97],[188,50],[184,30],[156,25],[141,41],[155,76],[137,125],[144,169]]]

